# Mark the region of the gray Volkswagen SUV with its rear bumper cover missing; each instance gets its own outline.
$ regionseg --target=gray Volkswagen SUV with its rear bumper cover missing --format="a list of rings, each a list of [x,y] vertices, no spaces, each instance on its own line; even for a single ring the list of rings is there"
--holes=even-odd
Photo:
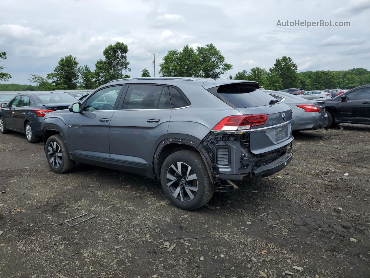
[[[292,111],[257,82],[133,78],[109,82],[82,103],[45,115],[50,168],[75,162],[161,181],[182,209],[205,205],[233,181],[262,178],[292,160]]]

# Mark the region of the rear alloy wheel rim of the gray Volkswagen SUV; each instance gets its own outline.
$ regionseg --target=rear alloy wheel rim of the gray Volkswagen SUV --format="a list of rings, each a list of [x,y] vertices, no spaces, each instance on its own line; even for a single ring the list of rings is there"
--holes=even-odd
[[[175,162],[167,170],[167,186],[174,198],[189,202],[198,192],[198,179],[193,169],[184,162]]]

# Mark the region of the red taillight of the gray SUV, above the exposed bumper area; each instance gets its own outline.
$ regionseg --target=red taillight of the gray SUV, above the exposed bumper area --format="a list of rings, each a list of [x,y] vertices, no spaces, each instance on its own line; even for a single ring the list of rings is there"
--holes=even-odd
[[[235,115],[223,118],[212,130],[245,130],[266,123],[268,114]]]

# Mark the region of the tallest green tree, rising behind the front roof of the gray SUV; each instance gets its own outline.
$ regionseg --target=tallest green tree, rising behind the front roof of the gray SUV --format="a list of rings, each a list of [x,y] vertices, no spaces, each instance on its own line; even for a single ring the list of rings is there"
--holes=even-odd
[[[124,78],[127,71],[131,71],[127,61],[128,46],[121,42],[105,47],[105,60],[99,59],[95,63],[95,82],[98,86],[115,79]]]

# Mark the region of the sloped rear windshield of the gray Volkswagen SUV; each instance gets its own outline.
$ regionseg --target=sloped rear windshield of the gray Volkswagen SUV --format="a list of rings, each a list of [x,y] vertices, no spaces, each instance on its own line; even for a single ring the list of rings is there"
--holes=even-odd
[[[250,85],[230,84],[208,89],[213,95],[233,108],[269,105],[274,97]]]

